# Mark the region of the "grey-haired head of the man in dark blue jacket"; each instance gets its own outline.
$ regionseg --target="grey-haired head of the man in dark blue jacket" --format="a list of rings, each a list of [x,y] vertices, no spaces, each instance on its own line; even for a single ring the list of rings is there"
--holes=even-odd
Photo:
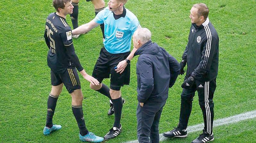
[[[138,28],[134,34],[133,34],[133,38],[135,38],[136,40],[140,40],[141,44],[145,44],[148,41],[151,40],[151,32],[150,30],[148,30],[147,28]]]

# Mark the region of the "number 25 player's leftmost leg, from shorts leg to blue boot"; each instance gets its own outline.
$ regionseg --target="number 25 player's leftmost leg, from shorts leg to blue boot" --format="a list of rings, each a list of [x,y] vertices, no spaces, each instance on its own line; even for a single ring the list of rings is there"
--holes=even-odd
[[[61,125],[53,124],[53,115],[56,108],[57,100],[61,94],[63,83],[58,73],[54,73],[51,70],[51,82],[52,90],[47,100],[47,116],[46,125],[44,127],[43,134],[49,135],[51,132],[61,129]]]

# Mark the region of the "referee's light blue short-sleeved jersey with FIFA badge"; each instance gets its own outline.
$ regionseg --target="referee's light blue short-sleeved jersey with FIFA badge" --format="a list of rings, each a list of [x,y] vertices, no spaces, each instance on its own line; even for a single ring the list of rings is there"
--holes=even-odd
[[[140,27],[136,16],[126,9],[125,17],[115,20],[109,7],[100,11],[94,18],[96,23],[104,23],[106,50],[112,54],[125,53],[130,51],[131,38],[137,27]]]

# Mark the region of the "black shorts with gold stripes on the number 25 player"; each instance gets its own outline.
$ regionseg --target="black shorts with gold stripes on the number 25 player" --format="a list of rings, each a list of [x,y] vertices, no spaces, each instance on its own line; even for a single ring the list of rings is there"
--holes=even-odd
[[[63,72],[51,70],[51,82],[53,86],[60,85],[63,82],[69,93],[76,89],[81,89],[76,68],[67,68]]]

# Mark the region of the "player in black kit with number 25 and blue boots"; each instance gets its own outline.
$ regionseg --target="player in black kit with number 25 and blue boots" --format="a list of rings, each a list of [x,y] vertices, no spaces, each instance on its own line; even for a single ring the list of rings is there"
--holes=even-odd
[[[99,85],[99,82],[85,72],[75,53],[71,28],[65,19],[67,14],[73,12],[74,7],[71,0],[53,0],[53,6],[56,12],[47,17],[44,34],[46,45],[49,48],[47,64],[51,68],[52,90],[47,101],[47,117],[43,134],[49,135],[61,129],[61,125],[53,124],[52,119],[64,84],[72,97],[71,106],[80,131],[79,139],[101,142],[103,138],[87,130],[83,117],[83,94],[77,70],[91,84]]]

